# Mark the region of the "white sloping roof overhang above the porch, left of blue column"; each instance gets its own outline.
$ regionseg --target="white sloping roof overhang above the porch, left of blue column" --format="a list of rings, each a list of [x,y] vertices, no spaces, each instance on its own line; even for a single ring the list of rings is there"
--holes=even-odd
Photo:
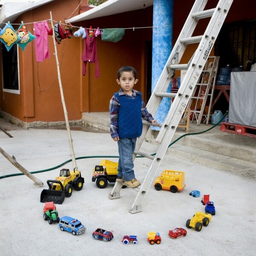
[[[108,0],[101,5],[65,20],[66,23],[90,20],[122,12],[145,9],[153,5],[154,0]]]

